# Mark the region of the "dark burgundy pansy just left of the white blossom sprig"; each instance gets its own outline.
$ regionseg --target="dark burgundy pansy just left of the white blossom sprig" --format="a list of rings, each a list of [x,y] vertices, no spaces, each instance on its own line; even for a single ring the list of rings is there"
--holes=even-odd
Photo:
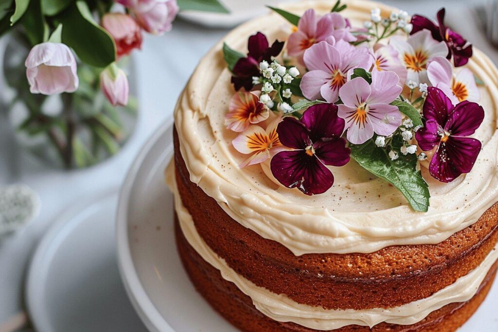
[[[234,76],[232,83],[235,90],[239,91],[245,88],[249,91],[254,86],[252,77],[259,76],[259,63],[263,60],[271,62],[271,57],[275,57],[282,51],[283,41],[275,40],[271,47],[268,44],[268,39],[261,32],[249,37],[248,41],[248,56],[240,58],[234,66]]]

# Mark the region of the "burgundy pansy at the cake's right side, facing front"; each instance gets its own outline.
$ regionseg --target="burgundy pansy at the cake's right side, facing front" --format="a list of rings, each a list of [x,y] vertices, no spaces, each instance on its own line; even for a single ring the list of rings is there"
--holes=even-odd
[[[469,173],[481,151],[481,142],[472,135],[484,119],[484,110],[476,103],[463,101],[453,106],[438,88],[427,88],[423,115],[425,126],[417,130],[415,138],[424,151],[435,146],[429,173],[441,182],[451,182]]]

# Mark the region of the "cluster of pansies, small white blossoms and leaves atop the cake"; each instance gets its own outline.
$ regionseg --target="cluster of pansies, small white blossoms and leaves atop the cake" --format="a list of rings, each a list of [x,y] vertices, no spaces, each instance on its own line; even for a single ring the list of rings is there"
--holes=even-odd
[[[472,45],[444,25],[444,8],[437,24],[373,9],[360,27],[340,1],[323,16],[270,8],[290,24],[285,42],[258,32],[247,55],[223,49],[236,90],[226,125],[248,156],[240,167],[267,163],[273,181],[317,195],[334,184],[329,166],[353,159],[424,212],[427,176],[447,183],[472,170],[482,82],[458,68]]]

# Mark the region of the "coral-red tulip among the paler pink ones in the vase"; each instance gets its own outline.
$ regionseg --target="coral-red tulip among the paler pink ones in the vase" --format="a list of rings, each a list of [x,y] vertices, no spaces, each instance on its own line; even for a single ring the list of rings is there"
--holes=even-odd
[[[128,55],[134,48],[140,49],[142,45],[141,29],[129,15],[122,13],[105,14],[102,17],[102,26],[113,36],[118,58]]]

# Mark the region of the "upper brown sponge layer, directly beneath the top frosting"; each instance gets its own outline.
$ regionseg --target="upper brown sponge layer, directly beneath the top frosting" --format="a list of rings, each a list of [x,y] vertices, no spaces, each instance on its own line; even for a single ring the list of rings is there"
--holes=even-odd
[[[246,279],[301,304],[360,310],[424,299],[477,267],[498,241],[495,204],[475,224],[438,244],[295,256],[230,218],[190,181],[176,130],[174,145],[178,190],[200,236]]]

